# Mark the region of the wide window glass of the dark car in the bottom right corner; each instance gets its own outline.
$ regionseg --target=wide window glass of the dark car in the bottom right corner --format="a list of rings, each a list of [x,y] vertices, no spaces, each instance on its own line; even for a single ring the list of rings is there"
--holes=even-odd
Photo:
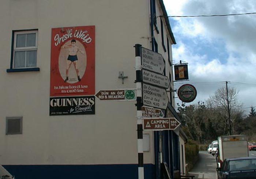
[[[230,171],[256,170],[256,159],[234,160],[229,162]]]

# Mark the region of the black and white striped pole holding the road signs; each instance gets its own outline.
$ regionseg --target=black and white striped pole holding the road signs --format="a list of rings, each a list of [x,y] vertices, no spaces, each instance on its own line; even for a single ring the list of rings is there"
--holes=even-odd
[[[137,133],[138,133],[138,179],[144,179],[143,166],[143,118],[142,118],[142,65],[141,45],[135,44],[135,70],[137,103]]]

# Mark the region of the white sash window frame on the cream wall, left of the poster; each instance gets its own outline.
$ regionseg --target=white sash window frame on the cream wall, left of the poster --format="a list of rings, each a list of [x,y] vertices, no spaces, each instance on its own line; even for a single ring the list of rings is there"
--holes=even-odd
[[[35,46],[31,46],[31,47],[16,47],[17,46],[17,35],[19,34],[35,34]],[[27,38],[26,38],[27,40]],[[17,51],[33,51],[38,49],[37,46],[37,42],[38,42],[38,30],[24,30],[24,31],[16,31],[14,32],[14,44],[13,44],[13,61],[12,61],[12,68],[13,69],[26,69],[26,68],[33,68],[33,67],[37,67],[37,64],[33,67],[26,67],[26,53],[25,53],[25,67],[20,67],[20,68],[15,68],[15,52]],[[25,42],[26,44],[26,42]],[[36,59],[36,63],[37,63],[37,59]]]

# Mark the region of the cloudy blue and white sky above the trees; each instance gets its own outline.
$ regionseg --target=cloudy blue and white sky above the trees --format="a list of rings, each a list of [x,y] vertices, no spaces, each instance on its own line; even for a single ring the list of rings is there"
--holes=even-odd
[[[164,0],[168,16],[222,15],[256,12],[256,0]],[[206,101],[229,81],[245,113],[256,106],[256,14],[224,17],[170,17],[176,39],[173,63],[188,63],[189,81],[196,87],[191,103]],[[246,84],[242,84],[246,83]],[[176,94],[177,97],[177,94]],[[176,98],[176,103],[181,101]]]

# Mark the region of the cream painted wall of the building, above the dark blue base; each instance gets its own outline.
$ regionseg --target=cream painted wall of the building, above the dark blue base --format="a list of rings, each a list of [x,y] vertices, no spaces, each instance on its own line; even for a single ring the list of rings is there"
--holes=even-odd
[[[149,9],[148,0],[1,1],[1,164],[138,162],[134,101],[96,98],[95,115],[49,116],[51,29],[95,26],[95,93],[135,88],[133,46],[140,43],[151,49],[150,38],[142,38],[151,36]],[[160,22],[158,26],[160,30]],[[7,73],[12,30],[28,29],[38,29],[40,71]],[[166,37],[167,31],[164,32]],[[167,64],[167,53],[161,48],[161,31],[155,37]],[[128,76],[124,84],[117,78],[119,71]],[[22,135],[5,135],[5,118],[13,116],[23,117]],[[145,133],[150,133],[150,151],[144,153],[144,163],[154,163],[153,133]]]

